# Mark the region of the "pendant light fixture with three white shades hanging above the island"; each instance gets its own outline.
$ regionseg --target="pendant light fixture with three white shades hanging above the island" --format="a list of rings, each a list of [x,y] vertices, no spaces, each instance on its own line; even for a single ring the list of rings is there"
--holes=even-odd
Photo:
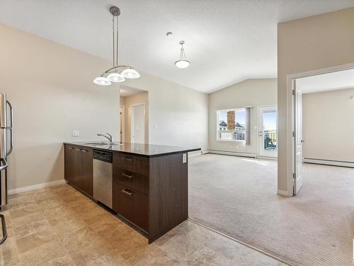
[[[113,16],[113,67],[105,70],[100,77],[96,77],[93,83],[108,86],[112,82],[124,82],[125,79],[137,79],[139,72],[129,65],[118,65],[118,16],[120,9],[117,6],[110,7]]]

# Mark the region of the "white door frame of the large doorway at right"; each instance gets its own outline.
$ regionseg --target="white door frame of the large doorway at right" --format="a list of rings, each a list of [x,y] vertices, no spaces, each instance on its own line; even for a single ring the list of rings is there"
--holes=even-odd
[[[286,115],[286,140],[287,140],[287,196],[294,196],[294,182],[296,182],[296,172],[295,172],[295,142],[292,132],[296,129],[294,128],[295,123],[295,106],[294,106],[294,95],[292,93],[293,81],[302,77],[312,77],[319,74],[328,74],[332,72],[338,72],[343,70],[354,69],[354,63],[346,65],[337,65],[334,67],[321,68],[319,70],[310,70],[307,72],[299,72],[295,74],[287,75],[287,111]],[[296,89],[296,87],[295,87]],[[294,176],[295,174],[295,176]]]

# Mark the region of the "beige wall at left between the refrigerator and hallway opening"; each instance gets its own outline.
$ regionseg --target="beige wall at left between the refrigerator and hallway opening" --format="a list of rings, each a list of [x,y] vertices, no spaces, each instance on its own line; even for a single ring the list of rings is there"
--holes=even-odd
[[[0,92],[14,109],[9,189],[63,179],[64,141],[118,138],[118,87],[92,82],[106,60],[1,24],[0,40]]]

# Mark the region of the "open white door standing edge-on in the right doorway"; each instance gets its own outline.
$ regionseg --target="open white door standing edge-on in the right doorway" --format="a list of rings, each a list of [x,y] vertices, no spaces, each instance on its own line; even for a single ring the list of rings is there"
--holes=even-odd
[[[296,80],[293,81],[294,95],[294,194],[299,192],[302,186],[302,93],[296,89]]]

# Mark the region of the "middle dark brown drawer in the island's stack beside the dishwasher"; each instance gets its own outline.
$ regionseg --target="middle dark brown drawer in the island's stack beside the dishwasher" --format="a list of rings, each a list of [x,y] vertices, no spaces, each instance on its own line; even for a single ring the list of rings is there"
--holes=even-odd
[[[143,174],[137,174],[136,172],[130,172],[118,167],[115,167],[113,170],[113,182],[120,183],[123,186],[130,187],[144,194],[148,193],[148,181],[149,177]]]

